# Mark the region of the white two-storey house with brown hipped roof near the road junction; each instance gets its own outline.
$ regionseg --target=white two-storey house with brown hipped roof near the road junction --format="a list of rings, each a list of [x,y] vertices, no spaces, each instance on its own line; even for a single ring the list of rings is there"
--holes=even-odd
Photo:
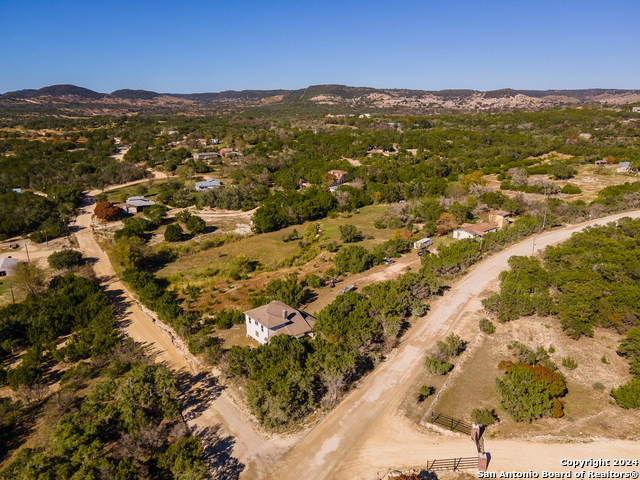
[[[276,335],[292,337],[312,337],[316,319],[296,308],[274,300],[261,307],[244,312],[247,335],[262,345],[269,343]]]

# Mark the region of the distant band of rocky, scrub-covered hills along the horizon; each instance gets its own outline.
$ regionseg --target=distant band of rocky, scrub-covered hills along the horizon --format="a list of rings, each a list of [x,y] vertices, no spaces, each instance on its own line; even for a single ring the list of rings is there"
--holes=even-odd
[[[537,110],[557,105],[624,105],[640,102],[640,90],[406,90],[313,85],[299,90],[243,90],[218,93],[163,94],[147,90],[98,93],[75,85],[53,85],[0,95],[0,112],[75,112],[86,115],[168,110],[207,114],[247,109],[315,113],[388,112],[429,114]]]

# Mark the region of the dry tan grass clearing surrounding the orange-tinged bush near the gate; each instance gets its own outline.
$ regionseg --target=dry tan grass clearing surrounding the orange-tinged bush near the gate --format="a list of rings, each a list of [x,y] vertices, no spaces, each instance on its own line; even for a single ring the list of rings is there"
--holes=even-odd
[[[469,421],[474,408],[496,409],[500,422],[489,429],[495,437],[527,437],[554,431],[559,436],[635,438],[635,425],[640,424],[640,412],[624,410],[610,404],[609,391],[627,382],[628,362],[615,355],[618,340],[613,331],[597,329],[594,338],[571,340],[551,318],[525,318],[506,324],[496,324],[496,333],[485,336],[482,345],[467,360],[461,374],[449,382],[435,407],[436,411]],[[497,368],[501,360],[513,360],[507,345],[519,341],[537,348],[553,345],[552,361],[565,376],[569,393],[561,401],[564,417],[543,418],[531,424],[516,423],[501,410],[495,393],[495,378],[502,372]],[[605,354],[609,364],[603,364]],[[576,359],[578,367],[562,367],[562,357]],[[593,384],[600,382],[605,389]]]

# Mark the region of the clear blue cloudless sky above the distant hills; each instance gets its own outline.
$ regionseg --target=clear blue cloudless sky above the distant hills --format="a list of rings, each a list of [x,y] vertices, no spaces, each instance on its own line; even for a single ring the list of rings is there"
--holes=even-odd
[[[638,0],[0,0],[0,92],[640,89]]]

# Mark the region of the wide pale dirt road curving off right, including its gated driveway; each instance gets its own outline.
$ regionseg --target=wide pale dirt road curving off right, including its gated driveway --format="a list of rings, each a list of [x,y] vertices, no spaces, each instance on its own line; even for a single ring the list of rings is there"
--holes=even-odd
[[[560,243],[588,224],[604,224],[625,216],[638,218],[640,211],[612,215],[545,233],[535,238],[535,250]],[[461,442],[460,448],[452,448],[450,442],[441,438],[442,445],[434,447],[433,435],[420,433],[404,421],[397,411],[398,406],[420,373],[421,361],[427,350],[455,326],[458,313],[469,301],[475,300],[501,271],[507,269],[509,257],[530,255],[533,247],[534,239],[528,239],[476,265],[432,305],[427,316],[416,322],[400,348],[302,442],[284,455],[267,475],[248,468],[242,478],[373,479],[377,472],[386,473],[387,467],[417,466],[427,459],[443,456],[473,456],[475,447],[470,440]],[[589,446],[562,445],[550,448],[545,443],[534,443],[525,448],[522,442],[501,441],[493,444],[488,440],[486,448],[490,452],[495,451],[491,465],[494,471],[538,468],[540,464],[532,460],[538,455],[546,455],[541,457],[540,462],[558,470],[560,458],[572,458],[571,455],[578,455],[576,458],[594,455],[606,458],[609,455],[611,458],[618,453],[631,454],[633,451],[637,454],[640,444],[608,441]],[[517,451],[521,451],[522,455],[511,454]]]

